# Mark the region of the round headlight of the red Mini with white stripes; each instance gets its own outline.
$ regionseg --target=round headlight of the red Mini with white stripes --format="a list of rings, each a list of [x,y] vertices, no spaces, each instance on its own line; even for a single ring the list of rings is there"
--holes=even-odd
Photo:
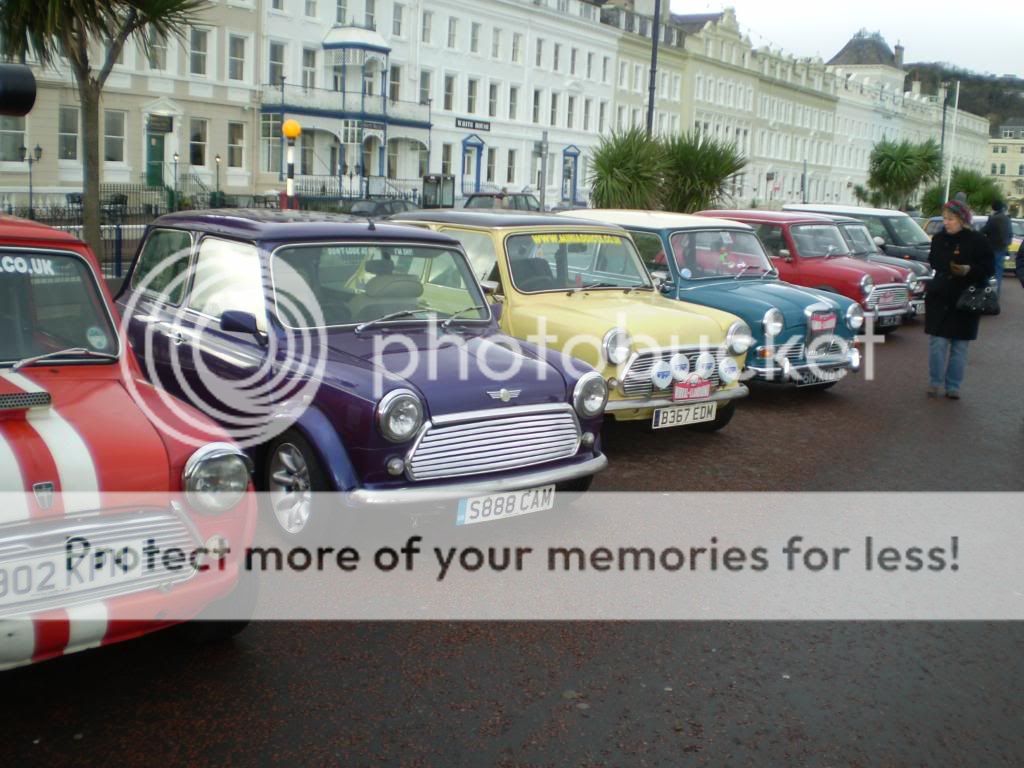
[[[181,486],[188,506],[198,512],[218,515],[231,509],[249,490],[252,460],[228,442],[204,445],[181,472]]]

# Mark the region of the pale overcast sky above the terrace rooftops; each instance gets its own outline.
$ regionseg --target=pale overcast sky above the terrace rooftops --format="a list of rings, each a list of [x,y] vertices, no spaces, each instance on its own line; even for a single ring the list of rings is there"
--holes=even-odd
[[[675,13],[731,6],[755,48],[771,45],[827,61],[860,29],[881,32],[904,60],[949,61],[995,75],[1024,75],[1024,6],[1010,0],[671,0]],[[1014,6],[1017,6],[1016,9]]]

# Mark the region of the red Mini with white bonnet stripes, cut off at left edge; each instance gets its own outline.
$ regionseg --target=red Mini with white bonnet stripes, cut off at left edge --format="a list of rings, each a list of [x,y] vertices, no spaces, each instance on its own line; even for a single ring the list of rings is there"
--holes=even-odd
[[[255,602],[249,459],[144,382],[98,273],[0,216],[0,669]]]

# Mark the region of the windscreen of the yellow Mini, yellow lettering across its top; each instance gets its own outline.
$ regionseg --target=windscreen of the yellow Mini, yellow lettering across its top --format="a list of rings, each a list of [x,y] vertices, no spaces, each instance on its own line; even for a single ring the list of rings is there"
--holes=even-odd
[[[651,288],[633,242],[604,232],[530,232],[505,241],[512,283],[522,293]]]

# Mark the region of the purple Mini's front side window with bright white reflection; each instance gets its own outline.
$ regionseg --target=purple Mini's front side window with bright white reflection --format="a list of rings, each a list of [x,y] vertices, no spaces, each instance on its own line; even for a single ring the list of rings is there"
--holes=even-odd
[[[219,318],[227,310],[250,312],[266,330],[266,303],[259,252],[248,243],[204,238],[196,259],[188,306]]]

